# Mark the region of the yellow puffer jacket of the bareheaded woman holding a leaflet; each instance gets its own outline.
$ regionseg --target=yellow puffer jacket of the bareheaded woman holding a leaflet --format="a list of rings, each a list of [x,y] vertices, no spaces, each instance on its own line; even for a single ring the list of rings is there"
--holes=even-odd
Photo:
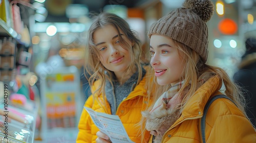
[[[151,102],[147,102],[147,91],[144,87],[146,83],[146,76],[147,74],[129,94],[129,96],[127,96],[127,98],[120,103],[116,112],[116,115],[120,117],[127,134],[134,142],[141,141],[141,135],[139,133],[140,127],[135,126],[141,120],[141,111],[144,111],[148,104],[151,104]],[[99,81],[95,82],[92,90],[95,90],[97,86],[99,86]],[[102,94],[95,94],[94,99],[92,96],[90,96],[84,106],[90,107],[97,112],[111,114],[110,104],[106,98],[103,98]],[[96,142],[96,133],[99,131],[99,129],[94,125],[90,115],[85,109],[82,110],[78,129],[79,133],[76,142]],[[149,138],[150,133],[146,132],[145,140],[148,140]]]

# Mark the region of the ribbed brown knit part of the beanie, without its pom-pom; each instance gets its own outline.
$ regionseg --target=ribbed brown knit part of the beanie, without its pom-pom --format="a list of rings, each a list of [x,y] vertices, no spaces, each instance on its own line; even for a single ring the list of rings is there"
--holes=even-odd
[[[208,57],[208,28],[206,23],[191,9],[178,8],[153,23],[148,31],[167,36],[184,43],[196,51],[204,62]]]

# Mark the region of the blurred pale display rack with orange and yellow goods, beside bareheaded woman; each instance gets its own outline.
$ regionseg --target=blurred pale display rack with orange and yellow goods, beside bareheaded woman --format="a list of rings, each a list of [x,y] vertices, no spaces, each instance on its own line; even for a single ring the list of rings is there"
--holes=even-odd
[[[40,77],[42,140],[75,142],[81,114],[80,74],[75,66],[52,67]]]

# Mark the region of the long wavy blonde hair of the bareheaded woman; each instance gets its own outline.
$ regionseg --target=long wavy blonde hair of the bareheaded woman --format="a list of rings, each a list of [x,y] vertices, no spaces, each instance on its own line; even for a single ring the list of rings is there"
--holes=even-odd
[[[86,77],[89,81],[90,87],[93,86],[96,80],[100,80],[100,85],[95,91],[92,93],[103,93],[105,92],[104,85],[106,80],[109,80],[113,85],[112,81],[115,77],[113,71],[106,69],[99,60],[99,52],[96,49],[93,34],[96,30],[103,28],[107,25],[111,25],[118,31],[118,35],[120,35],[120,31],[123,32],[124,36],[126,36],[134,45],[131,47],[127,42],[125,42],[122,36],[119,36],[120,45],[127,51],[130,52],[131,55],[131,64],[126,71],[126,74],[130,74],[131,71],[136,66],[139,76],[138,81],[142,77],[142,67],[141,67],[141,45],[139,39],[135,36],[136,33],[130,29],[129,24],[122,19],[121,17],[117,16],[116,14],[112,13],[105,13],[102,12],[94,17],[94,22],[92,23],[89,31],[88,31],[88,43],[85,49],[85,57],[84,57],[84,69],[88,73],[89,77]],[[107,36],[107,35],[106,35]],[[86,74],[84,74],[86,75]],[[125,75],[124,75],[125,76]],[[138,84],[139,82],[137,82]]]

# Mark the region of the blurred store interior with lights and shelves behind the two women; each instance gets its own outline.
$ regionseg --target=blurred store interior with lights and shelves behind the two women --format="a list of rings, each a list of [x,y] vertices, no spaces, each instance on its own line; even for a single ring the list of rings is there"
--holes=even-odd
[[[115,13],[148,52],[150,25],[183,0],[0,0],[0,139],[8,122],[17,142],[75,142],[88,95],[83,50],[92,15]],[[208,64],[232,78],[256,37],[256,0],[212,0]],[[148,60],[148,59],[146,59]],[[8,111],[8,117],[3,116]]]

